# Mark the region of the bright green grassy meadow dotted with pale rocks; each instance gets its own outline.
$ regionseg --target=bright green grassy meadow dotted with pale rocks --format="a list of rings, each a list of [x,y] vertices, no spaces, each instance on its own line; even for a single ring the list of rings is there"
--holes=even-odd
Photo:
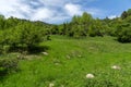
[[[0,87],[49,87],[50,83],[53,87],[131,87],[131,44],[119,44],[108,36],[51,36],[40,45],[49,47],[49,54],[20,61],[21,71],[5,76]],[[0,59],[13,57],[16,54]],[[112,70],[112,65],[121,70]],[[87,79],[88,73],[95,77]]]

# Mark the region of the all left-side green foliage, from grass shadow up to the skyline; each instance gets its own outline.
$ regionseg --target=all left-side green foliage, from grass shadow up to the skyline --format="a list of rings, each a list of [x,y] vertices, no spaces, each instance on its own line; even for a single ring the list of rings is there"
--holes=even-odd
[[[0,29],[1,53],[8,52],[10,48],[13,50],[17,47],[28,51],[33,47],[38,46],[45,39],[45,36],[48,35],[46,29],[48,27],[47,24],[40,22],[31,22],[14,17],[4,20],[4,27]],[[9,48],[5,49],[4,47]]]

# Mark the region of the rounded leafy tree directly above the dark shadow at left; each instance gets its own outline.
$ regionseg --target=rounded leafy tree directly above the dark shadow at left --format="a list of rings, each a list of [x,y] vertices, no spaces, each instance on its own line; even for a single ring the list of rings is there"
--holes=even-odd
[[[37,44],[41,42],[44,39],[43,29],[40,27],[36,27],[31,23],[26,23],[24,25],[19,25],[16,28],[16,36],[20,45],[27,47],[31,49]]]

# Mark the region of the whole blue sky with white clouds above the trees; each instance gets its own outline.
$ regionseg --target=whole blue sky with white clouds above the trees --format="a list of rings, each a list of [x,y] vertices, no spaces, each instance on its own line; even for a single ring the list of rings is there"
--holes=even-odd
[[[131,0],[0,0],[0,14],[60,24],[87,12],[93,17],[114,18],[131,9]]]

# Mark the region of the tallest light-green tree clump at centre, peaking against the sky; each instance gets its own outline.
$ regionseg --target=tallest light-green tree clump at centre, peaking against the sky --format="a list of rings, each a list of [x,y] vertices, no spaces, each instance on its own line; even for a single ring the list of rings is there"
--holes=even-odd
[[[62,34],[68,35],[70,37],[85,37],[87,36],[88,28],[91,27],[91,24],[93,22],[93,17],[91,14],[87,14],[86,12],[83,13],[82,16],[74,15],[72,17],[71,23],[64,23]]]

